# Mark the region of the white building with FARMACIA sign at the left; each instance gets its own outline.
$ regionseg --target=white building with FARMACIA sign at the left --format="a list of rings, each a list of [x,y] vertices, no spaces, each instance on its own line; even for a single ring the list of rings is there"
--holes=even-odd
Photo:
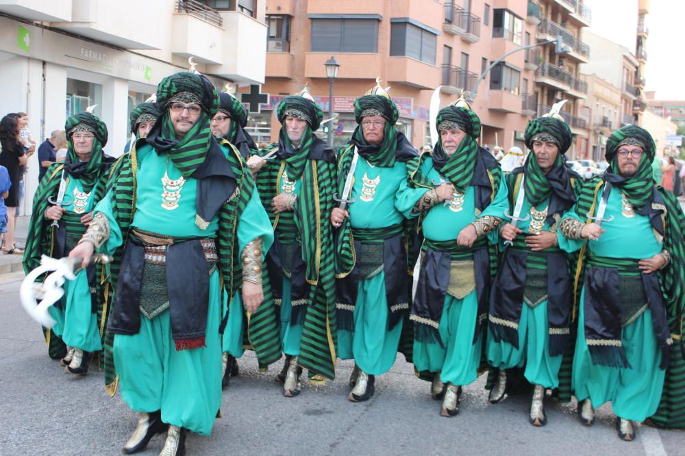
[[[128,115],[159,81],[188,68],[217,87],[264,81],[266,25],[259,0],[0,0],[2,113],[26,111],[37,141],[97,105],[105,151],[121,155]],[[251,46],[238,46],[245,42]],[[38,180],[29,161],[30,213]]]

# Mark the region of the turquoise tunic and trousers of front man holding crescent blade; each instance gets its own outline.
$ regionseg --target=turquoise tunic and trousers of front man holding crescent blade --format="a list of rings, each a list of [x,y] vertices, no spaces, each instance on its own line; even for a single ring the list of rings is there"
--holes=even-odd
[[[225,151],[224,151],[225,152]],[[180,177],[179,171],[166,157],[150,146],[137,151],[136,212],[132,226],[172,237],[214,237],[219,228],[214,217],[206,230],[195,225],[197,180],[188,178],[180,190],[177,208],[162,209],[162,178]],[[262,237],[264,251],[273,241],[269,219],[261,207],[256,191],[247,208],[238,216],[238,247]],[[110,237],[103,252],[114,252],[122,242],[122,234],[112,214],[110,198],[96,208],[110,221]],[[143,277],[145,281],[145,277]],[[162,421],[208,435],[221,406],[221,336],[222,284],[218,269],[210,275],[208,318],[205,346],[198,349],[175,350],[171,338],[169,309],[153,319],[140,316],[137,334],[115,334],[114,364],[119,375],[121,396],[138,412],[162,411]]]

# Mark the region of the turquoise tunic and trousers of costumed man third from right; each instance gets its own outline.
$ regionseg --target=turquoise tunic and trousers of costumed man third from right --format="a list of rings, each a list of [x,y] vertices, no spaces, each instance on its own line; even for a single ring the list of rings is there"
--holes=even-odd
[[[440,185],[443,182],[443,177],[433,167],[433,161],[430,158],[423,161],[420,172],[434,185]],[[502,180],[495,198],[480,215],[503,218],[507,204],[507,187]],[[475,218],[475,187],[469,187],[462,201],[453,200],[447,204],[438,203],[433,206],[423,217],[421,230],[425,239],[456,242],[459,232]],[[497,243],[497,232],[489,234],[488,241]],[[445,295],[443,314],[438,325],[438,332],[444,346],[415,339],[414,366],[416,366],[416,371],[439,372],[443,382],[453,385],[468,385],[476,379],[483,334],[479,334],[473,343],[478,315],[475,286],[477,284],[474,283],[473,290],[466,295],[450,295],[449,292]]]

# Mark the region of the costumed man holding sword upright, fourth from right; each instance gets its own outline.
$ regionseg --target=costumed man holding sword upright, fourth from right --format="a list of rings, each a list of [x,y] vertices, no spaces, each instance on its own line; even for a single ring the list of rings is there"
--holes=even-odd
[[[331,222],[338,229],[338,357],[354,359],[348,399],[362,402],[373,396],[375,375],[389,371],[397,356],[410,307],[403,224],[416,216],[427,189],[412,187],[418,152],[395,129],[399,114],[388,93],[376,85],[355,100],[354,113],[359,126],[338,155],[336,198],[346,207],[336,207]]]

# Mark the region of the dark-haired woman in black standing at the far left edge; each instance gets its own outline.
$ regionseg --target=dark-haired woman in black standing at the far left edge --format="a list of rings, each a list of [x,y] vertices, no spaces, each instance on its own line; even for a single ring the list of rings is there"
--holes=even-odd
[[[26,165],[25,148],[19,141],[19,126],[16,114],[8,114],[0,120],[0,165],[7,168],[10,175],[10,192],[5,198],[7,206],[7,233],[3,250],[8,254],[23,254],[14,247],[14,222],[16,220],[16,206],[19,202],[18,183],[21,176],[20,165]]]

